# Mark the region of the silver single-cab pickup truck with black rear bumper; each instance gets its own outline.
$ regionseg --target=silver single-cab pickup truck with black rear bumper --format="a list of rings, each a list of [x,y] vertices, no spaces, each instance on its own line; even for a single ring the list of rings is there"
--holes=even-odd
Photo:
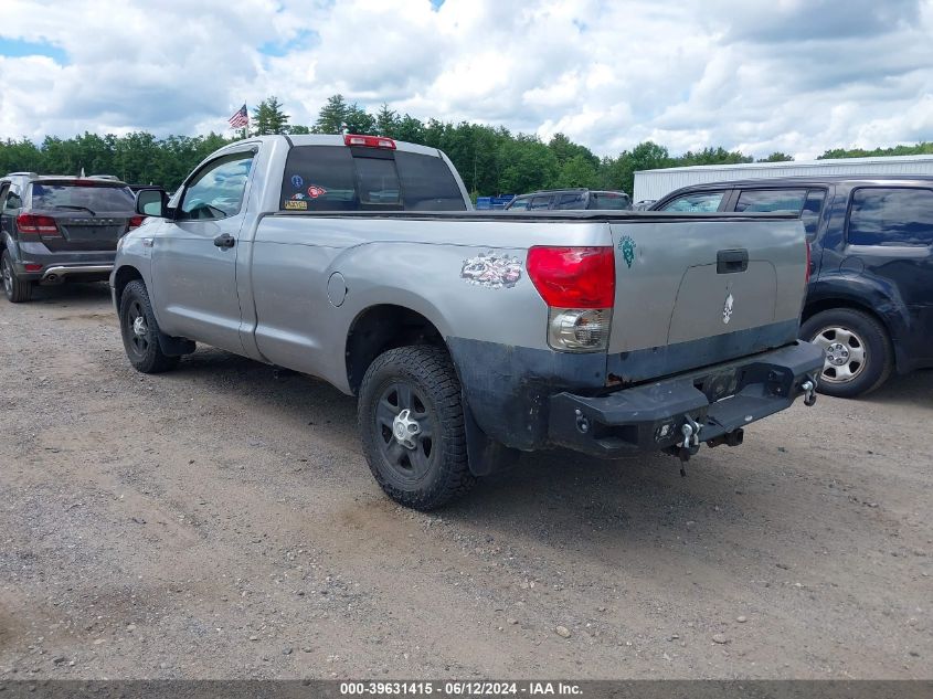
[[[329,381],[417,509],[520,452],[738,445],[823,367],[793,218],[478,213],[443,152],[354,135],[232,144],[137,211],[110,277],[134,367],[197,341]]]

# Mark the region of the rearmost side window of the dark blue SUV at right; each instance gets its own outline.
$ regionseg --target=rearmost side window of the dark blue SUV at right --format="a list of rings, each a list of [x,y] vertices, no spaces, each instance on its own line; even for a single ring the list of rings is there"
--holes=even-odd
[[[933,190],[857,189],[848,241],[850,245],[933,245]]]

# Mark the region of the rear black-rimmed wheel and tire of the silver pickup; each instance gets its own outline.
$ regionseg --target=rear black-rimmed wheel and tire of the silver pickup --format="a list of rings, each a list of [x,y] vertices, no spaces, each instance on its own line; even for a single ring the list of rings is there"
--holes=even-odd
[[[377,357],[360,385],[358,417],[370,470],[396,502],[432,510],[475,484],[460,382],[443,349],[418,345]]]

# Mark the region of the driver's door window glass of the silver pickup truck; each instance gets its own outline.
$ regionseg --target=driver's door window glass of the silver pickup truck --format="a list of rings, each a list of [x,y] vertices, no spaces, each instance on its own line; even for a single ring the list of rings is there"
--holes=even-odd
[[[209,162],[184,188],[179,219],[225,219],[240,213],[253,153],[231,153]]]

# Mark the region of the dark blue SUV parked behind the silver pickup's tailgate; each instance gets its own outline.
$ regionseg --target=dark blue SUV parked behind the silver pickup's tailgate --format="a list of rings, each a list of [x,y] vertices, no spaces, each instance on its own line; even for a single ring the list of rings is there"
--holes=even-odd
[[[933,178],[793,177],[697,184],[656,211],[794,211],[810,242],[801,337],[820,391],[851,398],[933,367]]]

